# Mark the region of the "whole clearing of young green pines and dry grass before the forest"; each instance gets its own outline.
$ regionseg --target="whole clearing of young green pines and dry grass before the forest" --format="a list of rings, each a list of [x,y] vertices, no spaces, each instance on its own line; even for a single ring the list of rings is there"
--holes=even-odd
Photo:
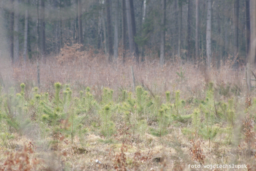
[[[1,64],[0,171],[256,170],[244,67],[109,64],[77,48],[38,61],[39,85],[37,61]]]

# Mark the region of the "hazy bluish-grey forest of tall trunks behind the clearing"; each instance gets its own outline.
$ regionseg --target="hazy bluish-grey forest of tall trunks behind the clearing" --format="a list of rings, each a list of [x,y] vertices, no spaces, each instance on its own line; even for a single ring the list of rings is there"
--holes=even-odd
[[[254,35],[254,0],[2,0],[0,5],[1,37],[14,63],[19,55],[25,62],[47,58],[78,43],[82,51],[103,51],[109,61],[132,55],[137,62],[159,58],[161,65],[178,59],[220,66],[228,58],[244,64]]]

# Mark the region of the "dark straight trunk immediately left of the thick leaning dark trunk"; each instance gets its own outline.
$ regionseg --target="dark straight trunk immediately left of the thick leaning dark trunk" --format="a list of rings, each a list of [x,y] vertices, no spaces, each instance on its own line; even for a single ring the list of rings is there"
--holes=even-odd
[[[123,62],[125,61],[125,56],[126,56],[126,0],[122,0],[122,31],[123,31],[123,36],[122,36],[122,45],[123,45]]]

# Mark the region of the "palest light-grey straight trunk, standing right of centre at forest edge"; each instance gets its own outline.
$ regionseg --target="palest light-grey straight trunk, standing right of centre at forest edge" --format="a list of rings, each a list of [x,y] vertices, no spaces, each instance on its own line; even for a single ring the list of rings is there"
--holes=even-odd
[[[206,55],[207,66],[211,67],[211,0],[207,0],[207,21],[206,21]]]

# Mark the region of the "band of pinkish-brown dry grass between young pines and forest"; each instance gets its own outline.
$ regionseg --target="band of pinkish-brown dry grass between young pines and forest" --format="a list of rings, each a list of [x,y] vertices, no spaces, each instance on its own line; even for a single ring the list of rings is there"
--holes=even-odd
[[[79,48],[79,45],[64,47],[58,56],[48,57],[45,62],[39,61],[40,87],[49,89],[55,82],[61,82],[71,84],[73,89],[89,86],[96,93],[100,93],[97,91],[101,91],[102,87],[109,87],[116,92],[123,88],[130,91],[133,85],[130,66],[133,66],[136,85],[143,85],[155,93],[164,94],[166,90],[174,92],[179,89],[188,96],[200,96],[209,82],[223,87],[245,86],[244,68],[235,70],[228,62],[209,72],[206,72],[203,63],[181,64],[177,60],[169,60],[161,67],[157,59],[145,58],[144,62],[136,65],[128,58],[123,63],[120,56],[113,63],[108,63],[102,52],[94,53],[94,49],[79,52]],[[38,86],[36,61],[14,66],[4,61],[0,74],[5,87],[21,82],[27,86]]]

